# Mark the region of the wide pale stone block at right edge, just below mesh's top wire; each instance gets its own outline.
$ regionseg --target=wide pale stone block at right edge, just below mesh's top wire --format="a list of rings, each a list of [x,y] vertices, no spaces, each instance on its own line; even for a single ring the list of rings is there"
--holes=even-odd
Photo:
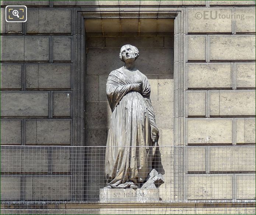
[[[253,171],[255,147],[210,147],[210,172]]]

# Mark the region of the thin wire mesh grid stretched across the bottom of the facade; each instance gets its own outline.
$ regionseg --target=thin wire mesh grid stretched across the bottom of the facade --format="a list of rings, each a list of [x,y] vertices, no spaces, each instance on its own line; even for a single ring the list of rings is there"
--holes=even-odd
[[[255,214],[255,146],[106,150],[1,146],[1,214]]]

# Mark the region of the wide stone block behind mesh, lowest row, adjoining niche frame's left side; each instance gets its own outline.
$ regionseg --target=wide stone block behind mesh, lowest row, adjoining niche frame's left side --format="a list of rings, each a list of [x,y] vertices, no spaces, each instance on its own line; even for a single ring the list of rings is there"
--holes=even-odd
[[[70,187],[70,176],[26,176],[25,199],[27,201],[67,201],[71,199]]]

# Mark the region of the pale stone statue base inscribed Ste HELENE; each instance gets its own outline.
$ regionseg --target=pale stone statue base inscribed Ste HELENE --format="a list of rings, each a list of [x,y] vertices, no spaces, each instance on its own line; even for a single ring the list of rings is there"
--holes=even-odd
[[[159,202],[159,188],[102,188],[101,203]]]

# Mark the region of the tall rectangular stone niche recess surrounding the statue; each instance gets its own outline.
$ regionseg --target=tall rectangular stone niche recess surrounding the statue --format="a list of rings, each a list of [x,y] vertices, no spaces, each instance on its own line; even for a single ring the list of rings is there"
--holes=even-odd
[[[85,18],[85,146],[106,145],[111,117],[106,81],[112,70],[123,66],[119,52],[126,44],[138,48],[140,56],[136,67],[148,77],[151,85],[150,98],[160,134],[158,143],[160,146],[173,145],[173,31],[172,18]],[[173,183],[173,168],[168,165],[173,154],[171,148],[166,150],[169,153],[159,151],[162,166],[157,167],[165,177],[165,183],[159,187],[162,200],[171,198]],[[104,154],[104,149],[98,148],[87,155],[87,201],[98,201],[99,188],[105,186]]]

